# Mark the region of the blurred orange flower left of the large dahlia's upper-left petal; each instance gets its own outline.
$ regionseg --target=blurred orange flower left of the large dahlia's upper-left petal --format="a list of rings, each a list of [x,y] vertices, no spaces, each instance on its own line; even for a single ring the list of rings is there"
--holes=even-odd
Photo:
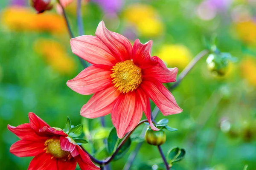
[[[75,71],[75,60],[68,56],[65,47],[59,42],[39,39],[35,42],[35,51],[41,54],[46,62],[61,74],[70,74]]]

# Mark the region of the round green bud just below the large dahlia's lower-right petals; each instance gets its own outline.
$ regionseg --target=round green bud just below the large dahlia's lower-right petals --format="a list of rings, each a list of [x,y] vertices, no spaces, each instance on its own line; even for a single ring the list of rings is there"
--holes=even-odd
[[[145,141],[148,144],[159,146],[166,142],[166,133],[163,130],[154,131],[148,127],[145,133]]]

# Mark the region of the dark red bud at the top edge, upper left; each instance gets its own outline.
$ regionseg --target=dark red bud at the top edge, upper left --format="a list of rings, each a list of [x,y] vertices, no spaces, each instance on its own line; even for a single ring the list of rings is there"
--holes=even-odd
[[[51,10],[54,0],[30,0],[30,5],[35,8],[38,14]]]

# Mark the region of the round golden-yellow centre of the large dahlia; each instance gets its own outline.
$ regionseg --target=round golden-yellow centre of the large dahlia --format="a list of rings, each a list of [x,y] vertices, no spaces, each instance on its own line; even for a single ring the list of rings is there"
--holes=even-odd
[[[111,70],[113,73],[110,76],[113,78],[114,87],[121,93],[135,90],[142,82],[141,68],[131,60],[117,62]]]

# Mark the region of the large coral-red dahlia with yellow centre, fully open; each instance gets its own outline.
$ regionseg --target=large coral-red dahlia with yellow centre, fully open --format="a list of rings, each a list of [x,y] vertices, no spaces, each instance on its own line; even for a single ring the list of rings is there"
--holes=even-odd
[[[178,69],[169,69],[160,58],[151,57],[152,40],[142,44],[137,39],[132,46],[122,35],[109,31],[103,21],[95,34],[70,40],[73,53],[92,64],[67,82],[79,94],[95,93],[81,108],[81,116],[111,113],[117,135],[123,138],[138,124],[143,111],[151,128],[159,130],[151,121],[149,98],[165,116],[182,112],[162,84],[175,82]]]

